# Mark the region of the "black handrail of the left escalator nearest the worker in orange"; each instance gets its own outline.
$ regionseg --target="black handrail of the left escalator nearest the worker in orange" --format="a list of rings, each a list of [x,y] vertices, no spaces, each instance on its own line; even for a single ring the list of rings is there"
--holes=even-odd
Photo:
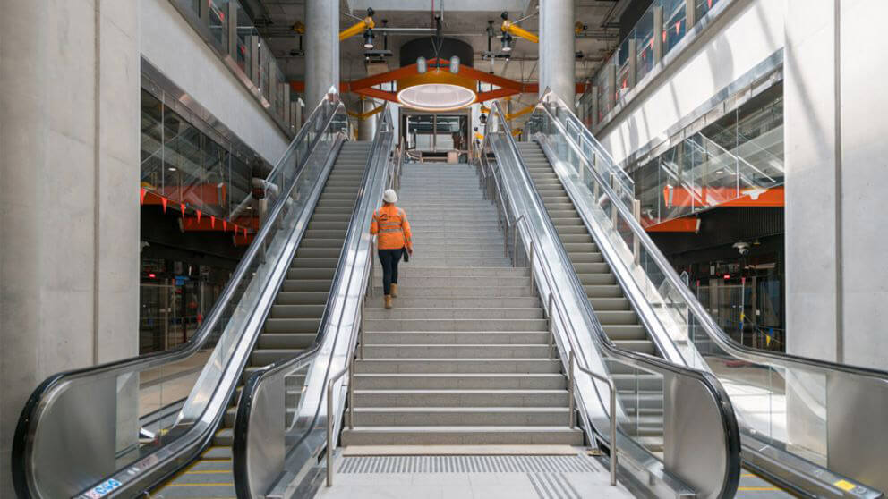
[[[233,463],[233,473],[235,476],[235,492],[237,497],[239,498],[247,498],[251,497],[251,486],[250,486],[250,473],[247,469],[247,440],[249,439],[250,434],[250,420],[251,420],[251,412],[253,408],[253,402],[257,393],[259,392],[260,385],[267,382],[273,376],[279,376],[284,373],[294,372],[296,369],[303,368],[305,365],[312,362],[313,359],[320,355],[321,345],[327,338],[328,330],[329,330],[329,321],[330,314],[332,313],[332,303],[334,298],[334,293],[332,290],[337,290],[345,278],[344,275],[344,260],[346,259],[346,255],[349,250],[352,250],[347,244],[352,238],[354,238],[355,232],[363,232],[366,230],[363,225],[358,224],[358,219],[356,218],[357,214],[363,209],[367,209],[366,206],[371,206],[370,209],[374,206],[374,203],[377,203],[377,199],[369,199],[367,198],[368,192],[366,190],[367,183],[371,174],[371,166],[374,162],[380,161],[380,156],[384,156],[384,160],[388,161],[388,151],[379,151],[382,147],[382,133],[392,131],[392,117],[391,112],[388,107],[388,102],[383,105],[382,112],[380,113],[380,118],[378,119],[377,127],[376,127],[376,135],[373,138],[373,142],[370,149],[370,154],[367,157],[367,165],[364,168],[364,173],[361,181],[361,188],[358,193],[357,199],[355,199],[354,208],[352,209],[352,216],[350,220],[352,223],[349,224],[348,230],[346,231],[346,236],[344,238],[344,243],[342,249],[339,251],[339,258],[337,260],[337,268],[334,272],[332,282],[330,284],[329,300],[327,304],[324,306],[324,312],[320,318],[320,325],[318,326],[318,334],[315,336],[314,342],[312,345],[306,349],[305,351],[300,352],[299,354],[291,357],[289,359],[279,359],[268,366],[257,369],[252,375],[247,379],[247,382],[243,385],[243,390],[241,392],[241,398],[238,401],[237,405],[237,413],[235,416],[235,428],[234,428],[234,444],[232,448],[232,463]],[[375,153],[375,154],[374,154]],[[390,174],[392,172],[389,172]],[[360,240],[359,240],[360,241]],[[372,258],[372,255],[370,255]],[[354,271],[354,269],[353,269]],[[354,275],[349,275],[349,283]],[[337,330],[337,334],[338,334]],[[330,352],[330,355],[333,355],[333,351]],[[327,380],[329,379],[329,371],[330,365],[328,364],[326,372],[324,374],[323,385],[327,385]],[[303,440],[311,433],[311,428],[317,424],[318,418],[320,417],[320,408],[323,406],[323,399],[320,399],[320,403],[316,408],[314,415],[312,417],[311,423],[306,427],[306,431],[303,433],[300,438],[295,441],[294,444],[290,445],[291,449],[297,448],[300,444],[302,444]]]

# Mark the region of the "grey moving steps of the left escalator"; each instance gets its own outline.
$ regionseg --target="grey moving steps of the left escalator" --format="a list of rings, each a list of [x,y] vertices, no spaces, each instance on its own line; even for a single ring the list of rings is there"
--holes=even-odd
[[[231,445],[241,388],[257,369],[294,357],[318,334],[370,148],[370,142],[343,144],[212,444],[155,496],[195,497],[200,490],[201,497],[235,497]],[[295,415],[303,382],[304,376],[286,378],[286,424]]]

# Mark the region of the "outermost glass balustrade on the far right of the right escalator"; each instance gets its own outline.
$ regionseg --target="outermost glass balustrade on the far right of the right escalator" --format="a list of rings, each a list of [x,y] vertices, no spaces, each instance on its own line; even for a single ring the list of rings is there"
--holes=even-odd
[[[888,444],[888,428],[869,413],[888,407],[888,373],[756,351],[730,338],[591,165],[593,157],[548,107],[538,106],[535,114],[534,124],[542,126],[529,129],[531,137],[550,157],[646,329],[660,338],[664,357],[712,372],[730,394],[747,464],[807,493],[875,497],[876,489],[888,490],[888,480],[874,469],[875,463],[884,469],[879,449]],[[837,483],[850,488],[840,490]]]

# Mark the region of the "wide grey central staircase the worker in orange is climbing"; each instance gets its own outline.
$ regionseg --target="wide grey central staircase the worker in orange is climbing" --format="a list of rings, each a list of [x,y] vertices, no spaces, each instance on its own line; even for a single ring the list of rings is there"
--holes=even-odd
[[[542,304],[503,256],[474,167],[404,165],[400,198],[414,257],[389,310],[376,263],[343,444],[583,444]]]

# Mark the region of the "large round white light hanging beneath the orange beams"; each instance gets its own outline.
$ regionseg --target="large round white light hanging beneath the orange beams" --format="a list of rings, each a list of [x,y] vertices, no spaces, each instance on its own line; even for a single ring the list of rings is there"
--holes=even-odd
[[[432,113],[471,106],[477,97],[474,80],[440,69],[398,80],[397,87],[402,105]]]

